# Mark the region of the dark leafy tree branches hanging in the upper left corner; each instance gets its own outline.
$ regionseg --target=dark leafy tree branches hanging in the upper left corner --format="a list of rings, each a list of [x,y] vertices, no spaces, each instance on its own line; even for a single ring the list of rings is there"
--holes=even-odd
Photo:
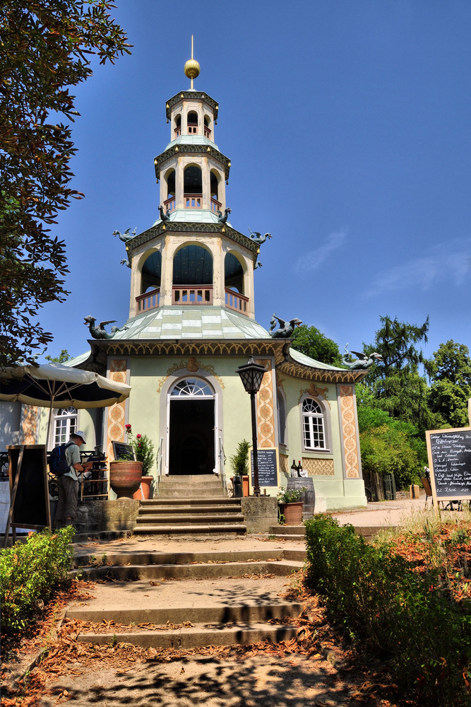
[[[31,361],[52,341],[37,322],[68,295],[64,240],[49,226],[83,194],[71,189],[79,115],[69,93],[93,74],[90,58],[129,54],[108,0],[11,0],[0,7],[0,362]]]

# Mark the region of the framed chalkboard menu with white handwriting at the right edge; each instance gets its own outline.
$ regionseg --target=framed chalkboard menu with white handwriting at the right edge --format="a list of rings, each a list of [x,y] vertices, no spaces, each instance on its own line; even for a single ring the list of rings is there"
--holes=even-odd
[[[427,431],[434,503],[471,499],[471,428]]]

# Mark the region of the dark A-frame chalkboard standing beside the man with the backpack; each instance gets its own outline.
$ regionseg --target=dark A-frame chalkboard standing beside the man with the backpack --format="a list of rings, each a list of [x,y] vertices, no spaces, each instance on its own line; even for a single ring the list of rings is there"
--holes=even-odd
[[[10,510],[5,529],[5,547],[10,527],[42,530],[51,527],[45,445],[9,445]]]

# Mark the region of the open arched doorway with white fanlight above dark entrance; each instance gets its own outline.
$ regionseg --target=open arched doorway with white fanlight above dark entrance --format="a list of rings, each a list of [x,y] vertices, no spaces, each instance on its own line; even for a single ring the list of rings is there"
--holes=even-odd
[[[215,405],[213,388],[201,378],[183,378],[171,388],[167,404],[167,473],[213,473]]]

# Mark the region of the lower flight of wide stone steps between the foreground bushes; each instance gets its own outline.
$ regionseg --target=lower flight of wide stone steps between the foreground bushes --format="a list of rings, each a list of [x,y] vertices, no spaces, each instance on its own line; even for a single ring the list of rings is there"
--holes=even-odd
[[[302,604],[280,597],[282,577],[302,568],[304,550],[261,549],[76,556],[73,574],[100,580],[95,597],[68,607],[85,622],[78,641],[195,648],[288,641]],[[264,576],[266,575],[266,576]],[[286,619],[288,618],[288,621]]]

